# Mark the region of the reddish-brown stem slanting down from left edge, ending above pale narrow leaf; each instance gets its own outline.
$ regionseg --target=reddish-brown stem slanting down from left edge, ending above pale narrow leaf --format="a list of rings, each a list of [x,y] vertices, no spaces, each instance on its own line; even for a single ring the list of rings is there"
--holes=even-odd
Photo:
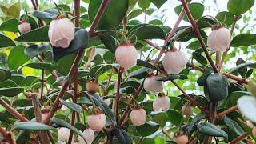
[[[15,118],[18,118],[22,122],[29,121],[22,114],[18,113],[17,110],[14,110],[8,103],[6,103],[2,98],[0,98],[0,105],[2,105],[10,114],[12,114]]]

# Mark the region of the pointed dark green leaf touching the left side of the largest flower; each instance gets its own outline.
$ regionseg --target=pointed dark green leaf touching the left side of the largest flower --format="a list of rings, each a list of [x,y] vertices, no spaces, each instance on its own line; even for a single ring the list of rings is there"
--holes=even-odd
[[[18,42],[49,42],[48,38],[49,25],[42,26],[37,29],[31,30],[26,34],[20,35],[14,41]]]

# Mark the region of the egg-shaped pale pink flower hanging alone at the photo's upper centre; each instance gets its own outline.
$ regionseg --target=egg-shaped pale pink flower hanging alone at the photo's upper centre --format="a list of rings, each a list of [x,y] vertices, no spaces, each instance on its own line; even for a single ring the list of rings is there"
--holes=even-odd
[[[125,70],[137,64],[138,53],[131,44],[122,44],[115,50],[115,58],[118,64]]]

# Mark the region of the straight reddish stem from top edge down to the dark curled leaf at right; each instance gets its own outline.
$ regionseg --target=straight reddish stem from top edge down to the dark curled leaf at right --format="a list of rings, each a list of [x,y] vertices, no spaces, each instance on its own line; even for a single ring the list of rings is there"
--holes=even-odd
[[[188,17],[189,20],[190,20],[190,23],[191,23],[191,25],[192,25],[192,27],[193,27],[194,33],[195,33],[195,34],[197,35],[197,37],[198,37],[198,41],[200,42],[200,44],[201,44],[201,46],[202,46],[202,49],[203,49],[203,51],[204,51],[205,54],[206,54],[206,58],[207,58],[208,61],[210,62],[210,66],[212,66],[213,69],[214,69],[214,71],[215,71],[216,73],[218,73],[218,69],[217,69],[217,67],[215,66],[213,60],[211,59],[210,54],[208,53],[208,50],[207,50],[207,48],[206,48],[206,44],[205,44],[205,43],[203,42],[203,40],[202,40],[202,35],[200,34],[200,31],[198,30],[198,26],[197,26],[196,22],[194,22],[194,18],[193,18],[193,16],[192,16],[192,14],[190,13],[190,9],[189,9],[189,7],[188,7],[187,4],[186,4],[186,0],[182,0],[182,6],[183,6],[183,8],[184,8],[184,10],[185,10],[185,12],[186,12],[187,17]]]

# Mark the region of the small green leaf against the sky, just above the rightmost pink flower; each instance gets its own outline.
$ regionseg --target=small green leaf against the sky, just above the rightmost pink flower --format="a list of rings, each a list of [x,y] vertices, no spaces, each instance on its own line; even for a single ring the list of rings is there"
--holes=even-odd
[[[222,11],[218,13],[215,18],[217,18],[219,22],[225,23],[226,26],[231,26],[234,21],[234,14]]]

